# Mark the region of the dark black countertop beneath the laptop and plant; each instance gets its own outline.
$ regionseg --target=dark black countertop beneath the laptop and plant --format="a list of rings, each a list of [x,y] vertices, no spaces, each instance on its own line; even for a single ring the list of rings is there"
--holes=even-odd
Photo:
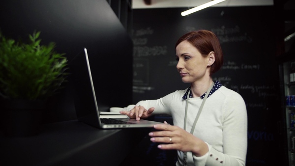
[[[78,120],[46,124],[33,137],[0,135],[0,165],[118,166],[150,130],[101,130]]]

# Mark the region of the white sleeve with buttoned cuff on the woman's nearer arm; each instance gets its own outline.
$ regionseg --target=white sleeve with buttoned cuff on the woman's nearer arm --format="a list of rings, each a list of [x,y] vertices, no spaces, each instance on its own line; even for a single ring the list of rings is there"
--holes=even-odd
[[[193,155],[196,166],[245,166],[247,153],[247,110],[241,96],[235,95],[224,105],[223,152],[208,144],[207,157]]]

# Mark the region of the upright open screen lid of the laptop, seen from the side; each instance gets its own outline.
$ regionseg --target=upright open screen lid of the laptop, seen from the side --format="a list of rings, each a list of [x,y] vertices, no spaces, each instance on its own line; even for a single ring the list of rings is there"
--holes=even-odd
[[[99,127],[98,107],[88,63],[85,48],[69,62],[70,84],[78,120]]]

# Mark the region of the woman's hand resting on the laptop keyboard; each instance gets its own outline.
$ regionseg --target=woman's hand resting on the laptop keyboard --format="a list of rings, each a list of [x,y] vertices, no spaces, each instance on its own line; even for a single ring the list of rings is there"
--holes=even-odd
[[[143,106],[134,106],[134,108],[130,111],[120,111],[121,114],[127,115],[128,117],[136,120],[140,120],[140,118],[148,118],[151,113],[155,110],[155,108],[151,107],[148,110]]]

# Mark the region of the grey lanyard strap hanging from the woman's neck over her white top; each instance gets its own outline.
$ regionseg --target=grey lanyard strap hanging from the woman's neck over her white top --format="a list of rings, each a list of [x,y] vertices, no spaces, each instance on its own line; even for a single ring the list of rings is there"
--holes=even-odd
[[[209,95],[209,92],[211,91],[211,89],[212,89],[213,86],[214,86],[214,83],[211,84],[211,86],[208,88],[208,90],[207,90],[207,92],[206,92],[206,95],[205,95],[205,97],[204,97],[204,99],[203,99],[203,101],[202,101],[202,104],[201,104],[200,109],[199,109],[199,111],[198,111],[198,113],[197,113],[197,116],[196,116],[196,118],[195,118],[195,121],[194,121],[194,123],[193,123],[193,125],[192,125],[192,129],[191,129],[191,132],[190,132],[191,134],[194,133],[194,130],[195,130],[195,127],[196,127],[197,121],[198,121],[198,119],[199,119],[199,117],[200,117],[201,111],[203,110],[203,106],[204,106],[204,104],[205,104],[205,102],[206,102],[206,99],[207,99],[207,97],[208,97],[208,95]],[[186,129],[187,107],[188,107],[188,100],[189,100],[190,90],[189,90],[189,92],[188,92],[187,94],[188,94],[188,95],[187,95],[187,98],[186,98],[185,114],[184,114],[184,125],[183,125],[183,129],[184,129],[184,130]],[[184,152],[184,153],[183,153],[183,166],[186,166],[186,163],[187,163],[187,162],[186,162],[186,159],[187,159],[187,155],[186,155],[186,152]]]

